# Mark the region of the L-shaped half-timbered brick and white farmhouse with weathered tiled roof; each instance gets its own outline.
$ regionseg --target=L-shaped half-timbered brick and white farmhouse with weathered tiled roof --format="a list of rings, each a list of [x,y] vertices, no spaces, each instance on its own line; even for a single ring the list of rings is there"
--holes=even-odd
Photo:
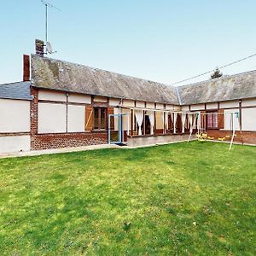
[[[195,112],[209,137],[256,144],[256,71],[174,87],[24,55],[23,80],[0,85],[0,153],[184,141]]]

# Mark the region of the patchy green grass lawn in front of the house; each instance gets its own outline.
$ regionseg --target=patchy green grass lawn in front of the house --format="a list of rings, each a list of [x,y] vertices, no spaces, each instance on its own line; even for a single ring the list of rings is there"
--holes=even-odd
[[[256,147],[0,160],[1,255],[255,255]]]

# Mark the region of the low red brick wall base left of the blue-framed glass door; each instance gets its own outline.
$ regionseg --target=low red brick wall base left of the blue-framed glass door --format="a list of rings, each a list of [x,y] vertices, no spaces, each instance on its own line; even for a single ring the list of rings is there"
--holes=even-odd
[[[31,137],[32,150],[73,148],[107,143],[107,132],[37,134]]]

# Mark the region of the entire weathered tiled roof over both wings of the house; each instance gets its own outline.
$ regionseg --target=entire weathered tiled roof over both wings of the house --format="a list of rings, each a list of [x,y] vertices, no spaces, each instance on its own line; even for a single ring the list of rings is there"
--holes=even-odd
[[[32,55],[32,86],[173,105],[256,97],[256,71],[180,87]]]

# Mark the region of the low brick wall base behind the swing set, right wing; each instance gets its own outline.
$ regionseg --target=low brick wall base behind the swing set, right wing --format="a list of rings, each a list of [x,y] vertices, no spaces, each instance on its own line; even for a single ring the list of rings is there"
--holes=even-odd
[[[225,137],[226,135],[230,135],[231,137],[232,131],[208,130],[207,134],[209,137],[214,137],[215,140],[218,140],[219,137]],[[242,131],[241,134],[240,131],[236,131],[234,142],[241,143],[241,137],[243,143],[256,144],[256,131]]]

